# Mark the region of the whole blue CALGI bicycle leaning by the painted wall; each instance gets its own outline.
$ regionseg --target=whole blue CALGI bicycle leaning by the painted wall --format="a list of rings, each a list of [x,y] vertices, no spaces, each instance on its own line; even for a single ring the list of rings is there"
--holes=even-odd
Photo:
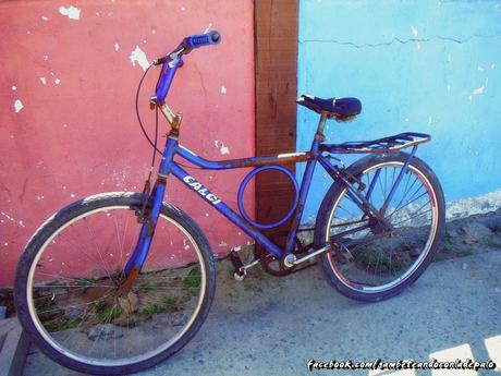
[[[231,253],[236,279],[258,264],[272,275],[286,275],[318,256],[317,264],[338,291],[375,302],[416,281],[439,247],[444,230],[442,189],[415,156],[429,135],[326,143],[327,120],[356,117],[362,110],[356,98],[298,99],[298,105],[320,114],[308,151],[210,161],[181,146],[182,118],[168,107],[166,96],[183,57],[220,40],[217,32],[187,37],[152,63],[161,66],[151,97],[156,135],[158,111],[170,124],[163,151],[157,149],[157,136],[155,142],[148,137],[152,166],[156,154],[161,154],[152,186],[150,174],[143,193],[80,199],[50,217],[26,245],[15,281],[19,318],[40,350],[66,367],[101,375],[145,369],[183,348],[206,319],[215,295],[215,258],[198,226],[163,201],[171,177],[264,250],[245,265],[236,252]],[[143,128],[140,119],[139,123]],[[410,153],[401,151],[407,147]],[[340,154],[368,155],[344,167],[334,157]],[[279,166],[285,162],[306,163],[301,186]],[[240,214],[186,172],[185,163],[210,170],[256,167],[239,190]],[[332,183],[318,211],[314,241],[304,244],[297,234],[317,165]],[[289,177],[295,201],[278,222],[258,223],[245,211],[243,195],[253,177],[270,169]],[[262,233],[288,220],[283,242]]]

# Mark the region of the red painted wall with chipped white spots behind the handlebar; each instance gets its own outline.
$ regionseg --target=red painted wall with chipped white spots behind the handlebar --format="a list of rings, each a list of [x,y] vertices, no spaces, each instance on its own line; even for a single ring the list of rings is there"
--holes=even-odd
[[[220,31],[221,45],[186,57],[168,102],[184,116],[184,146],[209,159],[254,155],[253,1],[74,1],[77,20],[61,14],[61,5],[70,3],[0,3],[0,287],[12,284],[26,241],[52,213],[89,194],[142,190],[150,148],[134,112],[143,74],[131,62],[136,46],[151,61],[186,35]],[[157,72],[142,93],[150,131],[147,99]],[[24,106],[19,112],[16,100]],[[236,207],[246,172],[193,174]],[[178,182],[168,195],[194,217],[215,253],[247,243]],[[253,213],[254,202],[247,205]]]

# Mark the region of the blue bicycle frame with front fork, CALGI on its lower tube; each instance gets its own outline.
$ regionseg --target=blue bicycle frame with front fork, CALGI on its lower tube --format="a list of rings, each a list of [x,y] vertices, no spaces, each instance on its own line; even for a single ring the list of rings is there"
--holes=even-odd
[[[367,196],[362,195],[356,187],[344,177],[337,166],[333,166],[329,161],[329,157],[325,156],[320,151],[321,143],[318,140],[314,140],[309,151],[291,153],[291,154],[278,154],[264,157],[250,157],[241,159],[228,159],[220,161],[211,161],[197,156],[190,149],[181,146],[179,140],[174,135],[170,135],[166,142],[163,151],[163,158],[161,160],[158,180],[155,184],[151,193],[152,205],[149,213],[148,222],[143,225],[137,246],[129,260],[125,272],[130,272],[133,267],[140,270],[146,256],[148,254],[149,244],[155,233],[154,228],[157,223],[158,216],[160,214],[161,204],[166,194],[167,178],[172,174],[180,180],[185,186],[197,193],[200,198],[210,204],[216,210],[222,214],[231,222],[237,226],[242,231],[247,233],[249,236],[255,239],[260,245],[262,245],[269,253],[273,254],[278,258],[282,258],[293,252],[294,239],[300,228],[301,218],[304,211],[304,205],[311,185],[313,174],[317,162],[329,173],[332,179],[340,180],[347,187],[347,195],[356,203],[364,213],[369,216],[378,216],[379,211],[371,207],[369,203],[369,195],[372,187],[369,187]],[[411,153],[410,159],[415,153],[417,146],[414,146]],[[192,174],[186,172],[180,165],[174,160],[175,156],[180,156],[193,165],[206,169],[206,170],[230,170],[236,168],[248,168],[258,167],[266,165],[276,165],[283,162],[306,162],[305,173],[301,182],[300,198],[295,213],[293,214],[293,220],[291,230],[288,235],[285,248],[282,250],[274,244],[268,236],[262,232],[254,228],[248,223],[241,215],[230,208],[216,193],[209,191],[205,184],[200,183]],[[405,167],[401,170],[399,178],[395,180],[392,191],[396,189],[400,180],[402,179],[405,170],[408,166],[410,160]],[[376,181],[376,179],[374,180]]]

